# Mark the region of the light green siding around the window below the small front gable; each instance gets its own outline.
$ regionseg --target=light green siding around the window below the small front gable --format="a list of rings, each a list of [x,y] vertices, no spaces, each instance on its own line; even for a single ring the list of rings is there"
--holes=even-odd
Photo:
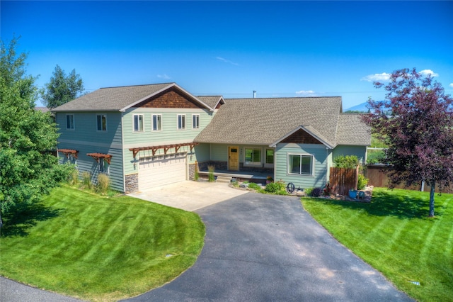
[[[288,174],[288,154],[304,154],[314,156],[314,175],[292,175]],[[328,157],[330,150],[323,145],[304,144],[278,144],[275,152],[275,178],[282,180],[285,184],[292,182],[296,187],[302,189],[325,186],[328,181]]]

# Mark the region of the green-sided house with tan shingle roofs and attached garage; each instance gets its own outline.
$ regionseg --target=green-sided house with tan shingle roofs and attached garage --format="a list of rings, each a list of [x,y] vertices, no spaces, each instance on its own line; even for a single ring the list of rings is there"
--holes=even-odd
[[[166,83],[98,89],[52,112],[61,162],[125,192],[193,179],[207,164],[323,186],[334,157],[365,162],[371,142],[340,97],[224,99]]]

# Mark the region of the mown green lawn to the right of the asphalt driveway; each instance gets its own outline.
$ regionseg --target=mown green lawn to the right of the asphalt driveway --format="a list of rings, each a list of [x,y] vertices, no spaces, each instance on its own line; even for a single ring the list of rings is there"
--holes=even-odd
[[[374,188],[371,203],[302,198],[336,239],[418,301],[453,301],[453,194]],[[410,281],[420,282],[420,286]]]

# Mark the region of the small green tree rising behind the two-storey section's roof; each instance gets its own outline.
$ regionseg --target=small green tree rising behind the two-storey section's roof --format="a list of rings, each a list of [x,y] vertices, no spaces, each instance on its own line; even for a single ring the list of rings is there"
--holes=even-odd
[[[55,108],[66,104],[83,94],[84,84],[76,69],[66,75],[58,65],[55,67],[50,82],[45,84],[45,91],[42,92],[42,99],[47,108]]]

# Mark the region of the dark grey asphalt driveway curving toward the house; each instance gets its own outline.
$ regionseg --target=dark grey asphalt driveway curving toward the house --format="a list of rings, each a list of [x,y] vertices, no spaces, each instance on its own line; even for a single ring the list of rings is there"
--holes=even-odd
[[[128,301],[412,301],[333,239],[299,198],[248,193],[196,213],[207,233],[194,266]]]

